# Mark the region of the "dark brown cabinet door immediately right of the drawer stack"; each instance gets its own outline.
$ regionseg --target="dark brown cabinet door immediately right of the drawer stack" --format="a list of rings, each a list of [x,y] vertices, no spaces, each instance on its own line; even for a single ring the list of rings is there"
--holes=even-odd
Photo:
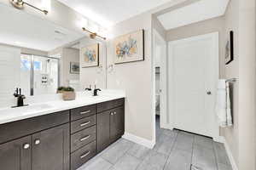
[[[109,140],[109,115],[110,111],[104,111],[97,115],[97,152],[101,152],[110,144]]]

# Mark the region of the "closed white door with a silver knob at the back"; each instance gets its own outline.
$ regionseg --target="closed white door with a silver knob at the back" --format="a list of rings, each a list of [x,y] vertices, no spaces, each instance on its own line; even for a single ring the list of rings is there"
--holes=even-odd
[[[218,32],[169,42],[169,105],[174,128],[218,136],[214,116]]]

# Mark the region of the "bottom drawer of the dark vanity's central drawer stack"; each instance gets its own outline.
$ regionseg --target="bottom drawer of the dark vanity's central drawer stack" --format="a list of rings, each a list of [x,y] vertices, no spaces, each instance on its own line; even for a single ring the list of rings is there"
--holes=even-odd
[[[76,170],[96,155],[96,141],[71,154],[71,170]]]

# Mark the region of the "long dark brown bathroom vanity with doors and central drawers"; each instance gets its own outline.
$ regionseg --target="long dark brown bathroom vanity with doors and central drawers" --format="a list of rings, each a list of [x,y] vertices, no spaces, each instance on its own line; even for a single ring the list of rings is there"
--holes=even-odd
[[[55,106],[53,112],[13,122],[4,122],[0,116],[1,169],[75,170],[82,166],[124,134],[125,99],[106,100],[79,107],[67,106],[67,102],[65,107],[70,109],[58,111]]]

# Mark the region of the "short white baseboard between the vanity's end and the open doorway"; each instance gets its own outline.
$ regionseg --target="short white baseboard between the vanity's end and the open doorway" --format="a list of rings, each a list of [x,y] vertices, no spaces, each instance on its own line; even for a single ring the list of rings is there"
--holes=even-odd
[[[141,144],[149,149],[153,149],[154,148],[154,144],[155,142],[152,140],[148,140],[148,139],[143,139],[141,137],[138,137],[134,134],[131,133],[125,133],[122,137],[123,139],[127,139],[127,140],[131,140],[131,142],[134,142],[136,144]]]

